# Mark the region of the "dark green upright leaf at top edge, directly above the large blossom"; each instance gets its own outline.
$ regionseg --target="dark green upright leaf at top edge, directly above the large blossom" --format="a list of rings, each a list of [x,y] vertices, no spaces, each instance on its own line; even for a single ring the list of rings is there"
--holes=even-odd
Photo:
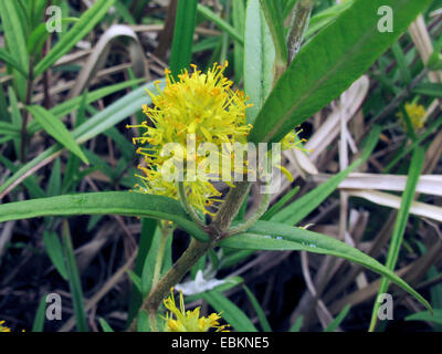
[[[177,77],[180,71],[188,67],[192,56],[193,32],[197,18],[197,0],[178,0],[170,71]]]

